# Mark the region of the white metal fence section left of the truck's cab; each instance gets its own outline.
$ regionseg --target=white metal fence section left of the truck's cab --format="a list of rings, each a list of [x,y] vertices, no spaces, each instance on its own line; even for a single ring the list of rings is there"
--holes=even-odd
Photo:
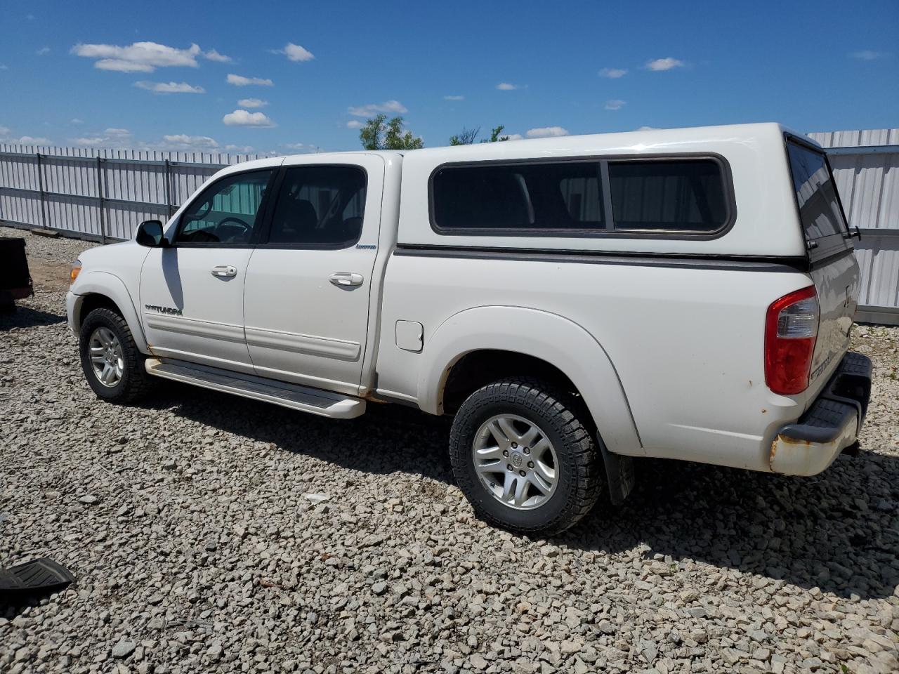
[[[128,239],[227,164],[261,155],[0,145],[0,222]]]

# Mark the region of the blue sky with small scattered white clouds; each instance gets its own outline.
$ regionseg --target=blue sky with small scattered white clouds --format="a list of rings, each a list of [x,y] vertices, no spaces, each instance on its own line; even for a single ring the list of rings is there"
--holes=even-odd
[[[347,150],[378,110],[426,146],[497,124],[899,126],[895,0],[0,0],[0,15],[3,142]]]

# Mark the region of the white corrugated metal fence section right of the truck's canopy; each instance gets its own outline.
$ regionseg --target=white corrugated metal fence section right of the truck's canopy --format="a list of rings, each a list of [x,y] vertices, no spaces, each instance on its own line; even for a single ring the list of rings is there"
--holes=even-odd
[[[899,324],[899,129],[830,131],[827,148],[850,227],[859,227],[859,321]]]

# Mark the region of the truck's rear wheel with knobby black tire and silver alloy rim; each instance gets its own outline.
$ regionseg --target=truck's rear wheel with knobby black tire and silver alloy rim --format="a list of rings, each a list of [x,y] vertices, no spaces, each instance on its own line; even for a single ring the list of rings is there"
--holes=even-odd
[[[496,381],[469,395],[456,414],[449,436],[453,474],[478,518],[530,537],[557,534],[590,512],[601,493],[601,456],[590,427],[583,405],[555,386]],[[516,437],[521,445],[512,442]]]

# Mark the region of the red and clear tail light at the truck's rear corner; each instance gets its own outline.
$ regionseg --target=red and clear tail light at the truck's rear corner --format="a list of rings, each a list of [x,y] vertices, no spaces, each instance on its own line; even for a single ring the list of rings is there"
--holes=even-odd
[[[780,297],[768,307],[765,383],[774,393],[793,395],[808,388],[819,318],[814,286]]]

